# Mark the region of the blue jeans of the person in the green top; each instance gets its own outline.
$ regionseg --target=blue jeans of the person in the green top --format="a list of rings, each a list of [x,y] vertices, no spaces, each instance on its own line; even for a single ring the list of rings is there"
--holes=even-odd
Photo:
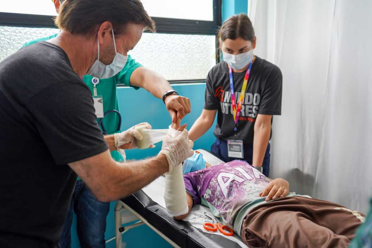
[[[100,202],[82,180],[76,182],[60,238],[61,248],[71,248],[73,211],[77,217],[77,236],[81,248],[105,248],[106,216],[109,202]]]

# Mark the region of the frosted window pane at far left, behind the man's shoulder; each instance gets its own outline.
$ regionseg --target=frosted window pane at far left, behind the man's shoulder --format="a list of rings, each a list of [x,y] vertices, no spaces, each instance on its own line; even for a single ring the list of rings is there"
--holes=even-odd
[[[57,32],[58,29],[53,28],[0,26],[0,61],[19,50],[26,42]]]

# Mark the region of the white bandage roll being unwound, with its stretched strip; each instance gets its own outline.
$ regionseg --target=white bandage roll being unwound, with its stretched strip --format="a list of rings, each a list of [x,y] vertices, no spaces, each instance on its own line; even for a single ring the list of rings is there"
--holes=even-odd
[[[147,129],[145,125],[137,126],[134,129],[143,136],[142,140],[136,140],[138,149],[146,149],[151,144],[162,141],[168,133],[168,129]]]

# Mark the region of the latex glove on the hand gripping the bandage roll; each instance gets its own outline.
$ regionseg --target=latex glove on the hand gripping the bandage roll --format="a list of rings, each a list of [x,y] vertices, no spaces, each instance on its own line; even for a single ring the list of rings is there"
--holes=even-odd
[[[137,140],[142,140],[142,134],[135,130],[134,128],[139,126],[139,125],[145,125],[148,129],[151,129],[151,125],[148,124],[147,122],[140,123],[137,125],[134,125],[133,127],[129,128],[128,130],[121,132],[121,133],[116,133],[114,134],[115,138],[115,147],[118,149],[134,149],[137,148]],[[151,145],[150,147],[154,147],[154,145]]]

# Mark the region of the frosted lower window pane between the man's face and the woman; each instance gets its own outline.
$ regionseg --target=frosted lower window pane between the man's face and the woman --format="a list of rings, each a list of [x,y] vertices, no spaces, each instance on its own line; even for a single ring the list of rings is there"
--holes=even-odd
[[[205,79],[216,64],[216,36],[144,33],[129,54],[167,80]]]

